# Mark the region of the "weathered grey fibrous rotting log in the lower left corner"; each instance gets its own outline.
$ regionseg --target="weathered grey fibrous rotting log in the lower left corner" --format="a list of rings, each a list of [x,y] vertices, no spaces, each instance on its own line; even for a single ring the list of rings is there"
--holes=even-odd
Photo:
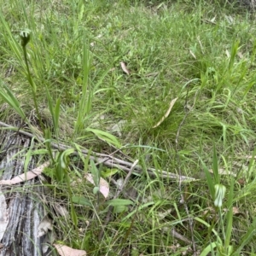
[[[24,172],[25,154],[31,138],[4,131],[0,135],[1,179],[10,179]],[[32,157],[28,169],[37,165]],[[45,236],[38,237],[38,225],[44,217],[44,204],[40,195],[44,193],[38,177],[15,186],[1,186],[9,209],[9,224],[1,241],[0,256],[43,256]]]

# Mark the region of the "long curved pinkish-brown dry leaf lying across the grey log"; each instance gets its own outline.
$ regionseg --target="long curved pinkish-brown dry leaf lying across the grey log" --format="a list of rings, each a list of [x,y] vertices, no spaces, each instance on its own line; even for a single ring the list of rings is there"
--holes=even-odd
[[[26,180],[30,180],[33,177],[37,177],[44,171],[44,167],[49,166],[49,161],[45,162],[42,166],[38,166],[30,172],[22,173],[12,179],[9,180],[1,180],[0,185],[14,185],[17,183],[22,183]]]

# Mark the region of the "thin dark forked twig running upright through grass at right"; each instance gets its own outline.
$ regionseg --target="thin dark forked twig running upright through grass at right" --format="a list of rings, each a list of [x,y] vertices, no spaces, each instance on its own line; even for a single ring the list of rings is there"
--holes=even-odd
[[[178,139],[179,139],[179,134],[180,134],[181,128],[182,128],[182,126],[185,122],[185,119],[189,115],[191,109],[193,109],[194,106],[195,106],[195,98],[194,98],[194,104],[193,104],[192,108],[189,108],[189,111],[188,111],[188,108],[187,108],[188,96],[189,96],[189,89],[187,90],[186,102],[185,102],[185,107],[184,107],[186,109],[186,113],[185,113],[185,115],[183,117],[183,120],[181,121],[181,123],[179,124],[178,129],[177,129],[176,140],[175,140],[175,144],[176,144],[175,151],[176,151],[176,156],[177,156],[177,166],[178,166],[178,172],[179,172],[178,188],[179,188],[180,195],[181,195],[181,201],[180,202],[184,205],[185,211],[186,211],[186,213],[189,217],[190,216],[189,207],[188,207],[186,201],[184,200],[184,196],[183,196],[182,175],[181,175],[182,170],[181,170],[181,163],[180,163],[180,158],[179,158],[179,154],[178,154],[178,149],[179,149]],[[195,97],[196,97],[196,94],[195,94]],[[193,252],[194,252],[194,255],[196,255],[195,238],[194,238],[194,231],[193,231],[193,218],[191,218],[191,217],[189,218],[189,228],[190,228],[190,232],[191,232]]]

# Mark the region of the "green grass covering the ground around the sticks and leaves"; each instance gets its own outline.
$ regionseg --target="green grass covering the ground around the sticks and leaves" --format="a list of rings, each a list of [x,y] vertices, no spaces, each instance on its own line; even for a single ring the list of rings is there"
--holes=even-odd
[[[90,255],[192,255],[193,246],[172,235],[176,230],[201,255],[255,255],[255,171],[248,159],[256,125],[253,14],[218,1],[167,2],[1,0],[0,119],[23,119],[35,136],[76,150],[121,148],[117,157],[143,167],[119,196],[128,200],[137,189],[134,202],[120,201],[105,225],[111,196],[104,201],[86,182],[89,158],[38,146],[52,160],[45,186],[70,212],[67,219],[52,216],[56,239],[67,246]],[[25,29],[30,72],[20,44]],[[10,67],[15,72],[7,75]],[[197,180],[150,177],[148,167]],[[96,168],[114,180],[127,174]],[[226,188],[219,208],[215,185]],[[112,196],[116,190],[110,183]]]

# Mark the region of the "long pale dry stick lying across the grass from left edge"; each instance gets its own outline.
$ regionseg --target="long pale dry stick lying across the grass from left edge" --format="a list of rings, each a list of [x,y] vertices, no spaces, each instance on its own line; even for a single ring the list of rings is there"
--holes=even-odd
[[[9,130],[14,130],[17,131],[18,128],[14,127],[12,125],[8,125],[5,124],[3,122],[0,121],[0,125],[7,127]],[[25,135],[26,137],[35,137],[32,133],[27,132],[27,131],[21,131],[19,130],[20,134]],[[35,137],[38,142],[40,143],[44,143],[44,138],[43,137]],[[67,148],[70,148],[70,146],[66,145],[66,144],[61,144],[61,143],[51,143],[51,147],[58,149],[58,150],[66,150]],[[81,152],[84,154],[84,156],[86,157],[90,150],[88,149],[81,149]],[[73,154],[75,155],[79,155],[78,152],[74,152]],[[113,157],[112,154],[100,154],[100,153],[96,153],[96,152],[91,152],[90,153],[90,159],[94,160],[96,163],[102,163],[105,166],[109,166],[109,167],[115,167],[115,168],[119,168],[125,172],[129,172],[131,170],[131,166],[133,165],[133,163],[125,161],[125,160],[120,160],[116,157]],[[143,172],[143,167],[142,166],[135,166],[134,167],[134,172],[141,174]],[[152,177],[157,177],[157,176],[161,176],[161,177],[168,177],[168,178],[173,178],[173,179],[180,179],[182,181],[195,181],[194,177],[186,177],[186,176],[181,176],[181,175],[177,175],[175,173],[171,173],[171,172],[166,172],[166,171],[161,171],[161,170],[156,170],[154,168],[148,168],[147,169],[148,175],[152,176]]]

